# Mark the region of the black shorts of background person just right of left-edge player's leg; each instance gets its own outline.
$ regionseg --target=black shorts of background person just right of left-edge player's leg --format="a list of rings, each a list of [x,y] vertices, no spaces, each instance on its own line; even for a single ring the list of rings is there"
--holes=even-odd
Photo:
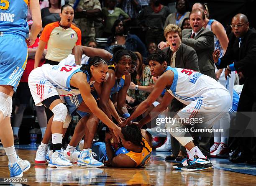
[[[15,94],[19,104],[29,104],[31,92],[27,82],[20,82]]]

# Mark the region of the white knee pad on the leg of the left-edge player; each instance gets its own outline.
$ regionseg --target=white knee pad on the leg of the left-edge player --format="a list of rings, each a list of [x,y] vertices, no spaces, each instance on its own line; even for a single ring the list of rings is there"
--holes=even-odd
[[[4,118],[11,117],[13,110],[13,100],[9,95],[0,92],[0,111],[3,112]]]

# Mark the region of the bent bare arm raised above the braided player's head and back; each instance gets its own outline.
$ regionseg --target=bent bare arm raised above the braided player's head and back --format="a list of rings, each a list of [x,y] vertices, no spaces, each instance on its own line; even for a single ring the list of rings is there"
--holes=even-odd
[[[81,58],[83,54],[88,57],[100,56],[106,61],[112,59],[112,54],[104,49],[78,45],[74,47],[76,65],[81,64]]]

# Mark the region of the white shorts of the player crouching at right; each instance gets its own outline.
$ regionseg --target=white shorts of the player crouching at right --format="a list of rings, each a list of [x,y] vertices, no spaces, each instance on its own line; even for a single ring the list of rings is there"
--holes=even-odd
[[[192,119],[198,126],[210,128],[216,121],[220,120],[229,110],[232,101],[230,94],[224,89],[209,89],[197,100],[190,102],[186,107],[180,110],[177,115],[182,118]],[[200,125],[202,123],[202,125]],[[191,125],[193,123],[190,122]]]

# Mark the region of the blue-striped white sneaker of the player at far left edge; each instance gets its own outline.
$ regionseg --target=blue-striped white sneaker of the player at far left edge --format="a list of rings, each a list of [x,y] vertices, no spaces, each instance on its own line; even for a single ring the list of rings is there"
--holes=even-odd
[[[8,167],[11,178],[21,178],[23,172],[28,171],[30,168],[30,163],[27,160],[22,160],[18,157],[18,161],[16,163],[10,163]]]

